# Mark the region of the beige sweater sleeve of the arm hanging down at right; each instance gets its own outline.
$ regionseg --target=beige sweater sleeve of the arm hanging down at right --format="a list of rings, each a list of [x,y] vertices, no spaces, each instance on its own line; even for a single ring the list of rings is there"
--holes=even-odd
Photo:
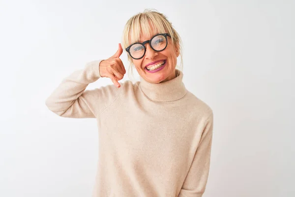
[[[213,132],[213,113],[205,122],[204,130],[193,162],[181,187],[178,197],[202,197],[209,174]]]

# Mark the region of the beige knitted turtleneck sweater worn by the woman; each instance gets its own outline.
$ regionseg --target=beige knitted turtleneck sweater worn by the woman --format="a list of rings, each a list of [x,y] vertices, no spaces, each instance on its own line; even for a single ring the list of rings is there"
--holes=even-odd
[[[176,78],[141,78],[86,90],[100,61],[64,78],[46,99],[62,117],[96,118],[99,137],[92,197],[201,197],[210,165],[213,114]]]

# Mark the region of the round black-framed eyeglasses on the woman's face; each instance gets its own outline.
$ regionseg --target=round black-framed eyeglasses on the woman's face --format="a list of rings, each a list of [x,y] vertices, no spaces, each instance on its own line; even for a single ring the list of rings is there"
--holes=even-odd
[[[136,42],[128,46],[125,50],[129,53],[131,58],[135,60],[139,60],[143,58],[146,54],[147,47],[145,44],[149,43],[150,48],[154,51],[163,51],[167,47],[167,35],[169,33],[159,33],[154,35],[150,40],[144,42]]]

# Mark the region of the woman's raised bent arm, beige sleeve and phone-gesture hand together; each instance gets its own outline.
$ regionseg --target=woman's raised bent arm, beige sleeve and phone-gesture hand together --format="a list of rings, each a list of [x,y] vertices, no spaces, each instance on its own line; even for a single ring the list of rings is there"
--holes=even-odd
[[[59,86],[46,99],[47,107],[61,117],[95,118],[120,93],[118,80],[123,78],[126,70],[119,59],[118,51],[107,60],[89,62],[84,69],[76,70],[62,80]],[[86,90],[89,83],[100,77],[109,77],[115,85],[108,85],[94,90]]]

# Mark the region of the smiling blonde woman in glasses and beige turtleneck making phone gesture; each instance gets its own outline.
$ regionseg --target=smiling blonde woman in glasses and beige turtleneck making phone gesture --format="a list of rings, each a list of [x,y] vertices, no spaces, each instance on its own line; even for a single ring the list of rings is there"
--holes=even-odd
[[[210,164],[213,114],[186,90],[176,69],[180,38],[167,18],[130,18],[123,44],[140,81],[126,73],[122,47],[66,77],[46,100],[62,117],[96,118],[99,156],[93,197],[201,197]],[[109,77],[115,85],[85,90]]]

